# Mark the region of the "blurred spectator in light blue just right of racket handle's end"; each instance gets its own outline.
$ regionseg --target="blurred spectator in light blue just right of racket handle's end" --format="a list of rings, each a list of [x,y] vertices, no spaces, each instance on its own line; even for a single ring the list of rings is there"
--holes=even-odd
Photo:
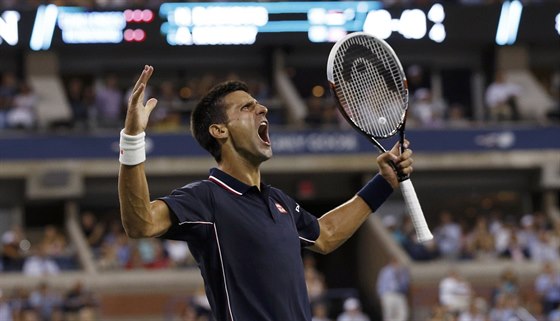
[[[440,213],[439,225],[434,230],[434,239],[440,257],[451,260],[460,257],[463,250],[463,231],[461,226],[454,221],[450,211],[443,210]]]

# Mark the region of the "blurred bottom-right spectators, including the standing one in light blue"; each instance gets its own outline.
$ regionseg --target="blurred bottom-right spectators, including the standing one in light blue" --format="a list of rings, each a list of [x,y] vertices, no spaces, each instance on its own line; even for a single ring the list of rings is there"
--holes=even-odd
[[[451,264],[438,282],[437,303],[428,321],[558,321],[560,320],[560,271],[557,261],[540,262],[534,279],[522,284],[514,264],[501,271],[488,289],[477,292],[474,280]],[[515,262],[513,262],[515,263]],[[528,283],[528,284],[527,284]],[[408,298],[413,289],[406,266],[392,258],[379,272],[377,293],[384,321],[410,320]]]

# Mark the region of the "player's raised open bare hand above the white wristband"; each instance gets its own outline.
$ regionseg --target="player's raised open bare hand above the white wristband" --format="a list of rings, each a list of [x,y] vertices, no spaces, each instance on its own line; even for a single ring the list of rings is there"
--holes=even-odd
[[[144,93],[148,80],[154,72],[154,67],[144,66],[144,70],[136,81],[132,94],[128,99],[128,109],[124,121],[124,133],[127,135],[137,135],[146,130],[150,113],[157,105],[157,99],[150,98],[144,106]]]

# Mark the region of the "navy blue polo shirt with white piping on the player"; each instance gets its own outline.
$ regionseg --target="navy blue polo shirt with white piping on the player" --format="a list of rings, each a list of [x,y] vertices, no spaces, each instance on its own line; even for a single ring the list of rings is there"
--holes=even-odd
[[[319,237],[315,216],[217,168],[161,200],[176,216],[162,238],[188,243],[216,320],[311,320],[301,248]]]

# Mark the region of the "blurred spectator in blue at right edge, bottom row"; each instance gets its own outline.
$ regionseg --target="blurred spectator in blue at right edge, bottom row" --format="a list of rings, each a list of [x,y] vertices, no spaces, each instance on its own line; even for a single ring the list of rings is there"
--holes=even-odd
[[[535,279],[535,291],[545,315],[560,306],[560,273],[552,262],[543,263],[541,272]]]

